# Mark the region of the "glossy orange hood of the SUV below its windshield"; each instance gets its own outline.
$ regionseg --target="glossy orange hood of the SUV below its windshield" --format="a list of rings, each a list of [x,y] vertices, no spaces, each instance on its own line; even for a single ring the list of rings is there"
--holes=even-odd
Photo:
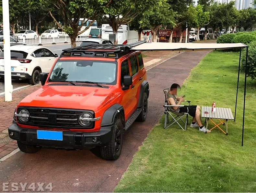
[[[42,86],[29,94],[19,106],[36,106],[97,111],[101,105],[113,99],[115,88],[91,86]]]

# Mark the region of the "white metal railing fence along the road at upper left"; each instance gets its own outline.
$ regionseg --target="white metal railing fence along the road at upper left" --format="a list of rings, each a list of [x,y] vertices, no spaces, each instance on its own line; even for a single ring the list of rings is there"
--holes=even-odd
[[[56,43],[69,43],[71,42],[70,38],[66,34],[60,34],[58,37],[44,38],[37,36],[36,38],[25,38],[20,36],[11,36],[19,42],[24,42],[27,45],[42,45],[42,44],[56,44]],[[83,41],[89,38],[89,36],[77,36],[76,42]]]

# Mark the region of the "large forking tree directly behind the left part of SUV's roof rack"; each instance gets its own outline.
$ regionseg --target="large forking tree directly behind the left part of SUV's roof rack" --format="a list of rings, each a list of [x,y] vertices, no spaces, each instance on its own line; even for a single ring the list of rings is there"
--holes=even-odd
[[[57,9],[58,14],[63,18],[66,24],[64,27],[59,24],[51,10],[49,14],[57,23],[58,27],[69,35],[72,47],[76,47],[76,37],[84,33],[93,24],[97,16],[103,15],[104,9],[108,7],[110,3],[111,0],[51,0],[51,5]],[[78,26],[80,18],[84,19],[80,26]],[[84,30],[80,31],[83,24],[89,19],[91,19],[92,22]]]

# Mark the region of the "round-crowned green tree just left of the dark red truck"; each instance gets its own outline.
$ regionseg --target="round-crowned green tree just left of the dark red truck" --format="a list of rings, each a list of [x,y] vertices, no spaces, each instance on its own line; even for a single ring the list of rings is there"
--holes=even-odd
[[[150,27],[153,31],[153,42],[157,41],[157,30],[168,25],[175,25],[175,19],[174,12],[165,0],[148,9],[140,20],[140,27]]]

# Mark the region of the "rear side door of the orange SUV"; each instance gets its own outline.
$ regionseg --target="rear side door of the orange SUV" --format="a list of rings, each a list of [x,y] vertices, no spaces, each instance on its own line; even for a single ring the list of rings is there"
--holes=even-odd
[[[131,70],[132,70],[132,77],[133,77],[133,83],[131,85],[132,90],[132,108],[133,112],[137,108],[138,104],[138,95],[140,90],[140,80],[139,80],[139,67],[138,67],[138,61],[136,55],[133,55],[129,58]]]

